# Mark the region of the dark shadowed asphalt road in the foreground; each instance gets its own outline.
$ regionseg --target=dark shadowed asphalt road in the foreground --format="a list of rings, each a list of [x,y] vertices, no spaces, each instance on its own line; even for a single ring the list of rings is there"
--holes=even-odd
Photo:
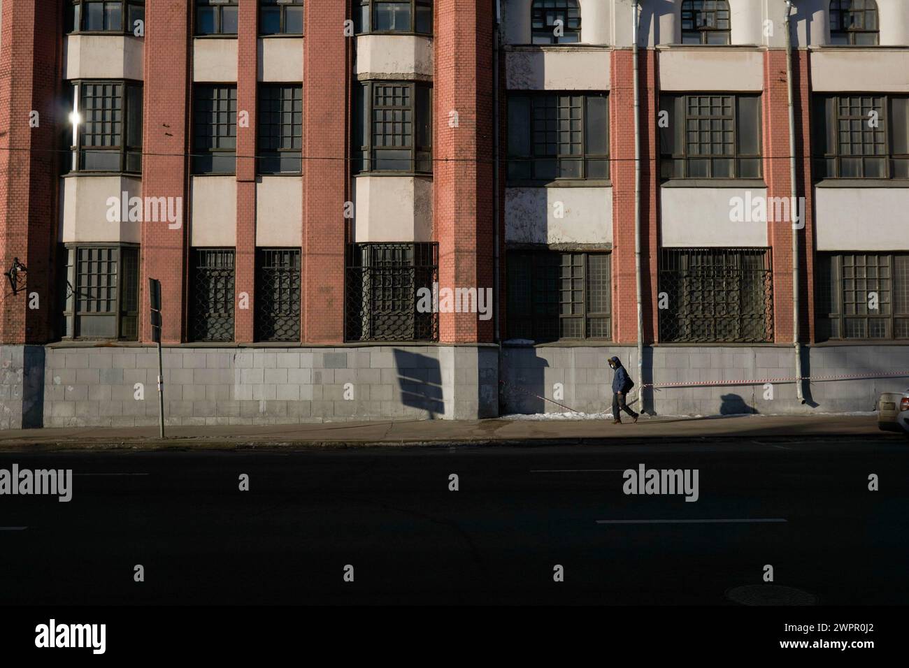
[[[71,468],[73,499],[0,495],[0,604],[733,604],[744,585],[909,603],[900,439],[0,453],[14,463]],[[624,494],[639,464],[697,469],[698,501]]]

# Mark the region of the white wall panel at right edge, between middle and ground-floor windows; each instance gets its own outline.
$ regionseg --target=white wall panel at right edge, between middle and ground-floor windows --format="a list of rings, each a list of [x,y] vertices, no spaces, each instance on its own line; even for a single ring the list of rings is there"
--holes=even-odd
[[[909,188],[814,188],[819,251],[909,250]]]

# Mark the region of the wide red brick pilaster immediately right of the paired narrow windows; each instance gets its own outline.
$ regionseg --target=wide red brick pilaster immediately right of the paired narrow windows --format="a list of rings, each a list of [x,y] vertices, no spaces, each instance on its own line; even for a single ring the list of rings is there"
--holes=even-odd
[[[349,198],[347,3],[307,0],[303,72],[303,332],[344,341],[344,204]]]

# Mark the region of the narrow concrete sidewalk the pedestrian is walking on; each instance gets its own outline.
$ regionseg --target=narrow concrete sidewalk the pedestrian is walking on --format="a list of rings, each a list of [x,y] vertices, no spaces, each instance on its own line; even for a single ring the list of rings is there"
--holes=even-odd
[[[163,448],[235,449],[247,447],[319,447],[444,444],[620,444],[653,440],[696,441],[738,437],[784,439],[866,436],[901,440],[877,428],[874,415],[729,417],[642,416],[611,424],[608,420],[424,420],[168,427],[72,427],[0,432],[0,451],[21,449]]]

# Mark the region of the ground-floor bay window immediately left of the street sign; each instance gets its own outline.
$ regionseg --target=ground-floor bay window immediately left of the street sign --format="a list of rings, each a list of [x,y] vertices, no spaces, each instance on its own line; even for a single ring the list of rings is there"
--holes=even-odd
[[[65,337],[135,341],[138,247],[68,245],[65,258]]]

